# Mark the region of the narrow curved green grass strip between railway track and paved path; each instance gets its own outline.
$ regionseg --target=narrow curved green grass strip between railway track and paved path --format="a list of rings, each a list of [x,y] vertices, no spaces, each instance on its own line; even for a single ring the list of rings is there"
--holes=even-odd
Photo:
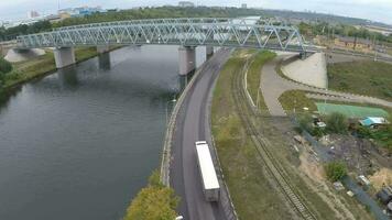
[[[266,62],[273,59],[275,56],[275,53],[261,51],[253,57],[249,66],[247,74],[248,91],[254,103],[257,102],[258,90],[260,88],[261,69]],[[259,99],[260,98],[262,98],[261,95],[259,95]]]

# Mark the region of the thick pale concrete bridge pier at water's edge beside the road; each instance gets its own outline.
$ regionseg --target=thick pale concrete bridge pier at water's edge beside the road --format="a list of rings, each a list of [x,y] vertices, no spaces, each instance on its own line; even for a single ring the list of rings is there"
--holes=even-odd
[[[193,46],[182,46],[178,48],[179,75],[187,75],[196,67],[196,50]]]

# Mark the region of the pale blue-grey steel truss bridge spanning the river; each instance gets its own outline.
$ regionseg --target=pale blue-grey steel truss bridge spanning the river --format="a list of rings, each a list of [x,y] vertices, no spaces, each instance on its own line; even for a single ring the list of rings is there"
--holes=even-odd
[[[66,26],[18,36],[18,48],[163,44],[312,52],[298,30],[259,19],[153,19]]]

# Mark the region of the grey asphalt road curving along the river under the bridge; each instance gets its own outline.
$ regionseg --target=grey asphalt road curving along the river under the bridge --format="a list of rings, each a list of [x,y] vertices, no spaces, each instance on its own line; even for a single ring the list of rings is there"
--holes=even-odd
[[[210,92],[220,68],[229,55],[229,50],[220,50],[207,61],[186,95],[177,114],[172,140],[170,182],[181,197],[177,211],[185,220],[227,219],[225,210],[227,211],[226,205],[229,202],[225,202],[228,201],[225,196],[226,191],[224,191],[219,202],[208,202],[204,199],[202,179],[197,168],[195,142],[206,140],[210,144],[211,136],[208,123]]]

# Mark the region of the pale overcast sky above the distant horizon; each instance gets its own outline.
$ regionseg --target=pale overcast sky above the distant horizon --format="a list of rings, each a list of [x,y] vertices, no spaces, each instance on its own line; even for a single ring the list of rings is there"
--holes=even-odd
[[[101,6],[107,8],[133,8],[177,4],[179,0],[0,0],[0,20],[26,19],[29,11],[41,14],[55,13],[59,8]],[[190,0],[198,6],[227,6],[294,11],[311,10],[345,16],[369,19],[392,24],[392,0]]]

